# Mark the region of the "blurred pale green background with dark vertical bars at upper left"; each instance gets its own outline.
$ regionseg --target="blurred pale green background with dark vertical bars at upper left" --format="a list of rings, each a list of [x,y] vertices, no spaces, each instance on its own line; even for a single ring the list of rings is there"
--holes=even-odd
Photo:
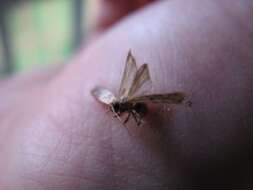
[[[98,0],[0,1],[0,78],[64,62],[93,27]]]

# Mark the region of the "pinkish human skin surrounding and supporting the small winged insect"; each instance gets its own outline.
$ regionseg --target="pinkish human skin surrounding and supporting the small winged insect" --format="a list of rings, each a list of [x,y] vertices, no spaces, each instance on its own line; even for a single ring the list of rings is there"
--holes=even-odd
[[[65,67],[2,81],[1,189],[251,189],[252,10],[250,0],[157,2]],[[117,93],[129,49],[154,92],[185,92],[192,107],[155,108],[128,130],[106,113],[90,90]]]

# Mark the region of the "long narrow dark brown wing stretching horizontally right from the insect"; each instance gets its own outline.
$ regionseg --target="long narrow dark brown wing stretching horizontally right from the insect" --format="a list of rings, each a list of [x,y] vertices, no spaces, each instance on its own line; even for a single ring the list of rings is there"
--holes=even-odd
[[[180,104],[184,101],[185,94],[181,92],[173,92],[167,94],[151,94],[146,96],[138,96],[129,100],[129,102],[152,102],[166,104]]]

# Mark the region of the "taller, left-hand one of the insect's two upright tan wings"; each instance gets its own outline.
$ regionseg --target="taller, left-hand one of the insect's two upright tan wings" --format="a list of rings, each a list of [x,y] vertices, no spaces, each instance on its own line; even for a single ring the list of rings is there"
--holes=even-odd
[[[128,96],[136,72],[137,72],[136,61],[132,55],[132,52],[129,51],[127,55],[124,73],[120,83],[119,97],[121,99],[124,99]]]

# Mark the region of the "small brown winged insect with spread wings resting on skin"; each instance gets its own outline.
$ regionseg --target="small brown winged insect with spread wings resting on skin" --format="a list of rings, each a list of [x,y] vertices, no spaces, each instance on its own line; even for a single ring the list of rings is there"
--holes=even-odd
[[[132,116],[139,126],[148,112],[148,103],[180,104],[185,99],[185,94],[181,92],[146,94],[144,90],[149,89],[151,84],[148,65],[145,63],[137,69],[136,60],[129,51],[118,95],[104,87],[95,87],[91,94],[99,102],[108,105],[120,121],[122,114],[126,113],[124,124]]]

